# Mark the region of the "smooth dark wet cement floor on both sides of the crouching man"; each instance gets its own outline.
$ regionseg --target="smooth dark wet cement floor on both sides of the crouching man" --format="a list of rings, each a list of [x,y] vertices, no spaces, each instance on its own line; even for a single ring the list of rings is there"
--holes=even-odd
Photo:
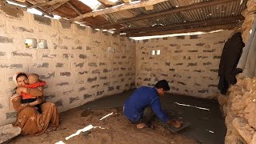
[[[129,90],[86,103],[81,109],[110,109],[122,107],[123,102],[133,93]],[[190,126],[178,131],[187,138],[199,143],[222,144],[226,135],[225,120],[219,110],[218,102],[189,96],[166,94],[161,98],[162,108],[168,114],[182,121],[190,122]],[[186,105],[186,106],[184,106]]]

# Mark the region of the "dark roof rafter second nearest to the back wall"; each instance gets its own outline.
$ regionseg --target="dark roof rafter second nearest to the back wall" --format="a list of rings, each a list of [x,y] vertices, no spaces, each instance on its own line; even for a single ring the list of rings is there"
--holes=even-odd
[[[155,31],[155,30],[170,30],[171,28],[181,28],[182,26],[204,26],[206,24],[210,23],[218,23],[218,22],[234,22],[238,20],[244,20],[245,18],[242,15],[236,16],[236,17],[229,17],[229,18],[214,18],[214,19],[207,19],[203,21],[197,21],[197,22],[186,22],[182,24],[174,24],[171,26],[150,26],[150,27],[141,27],[141,28],[127,28],[127,29],[119,29],[116,31],[119,31],[119,33],[138,33],[142,31]]]

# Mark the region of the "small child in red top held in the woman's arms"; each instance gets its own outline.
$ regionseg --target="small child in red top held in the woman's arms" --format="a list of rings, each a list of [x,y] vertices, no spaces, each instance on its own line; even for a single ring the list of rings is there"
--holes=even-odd
[[[24,87],[26,88],[37,88],[38,86],[45,86],[46,82],[39,80],[39,76],[38,74],[30,74],[28,76],[28,83],[29,85],[26,85]],[[22,92],[22,103],[27,103],[27,102],[34,102],[37,100],[37,97],[34,97],[31,94],[26,94],[24,92]],[[36,105],[35,106],[38,110],[38,112],[41,114],[41,108],[40,105]]]

